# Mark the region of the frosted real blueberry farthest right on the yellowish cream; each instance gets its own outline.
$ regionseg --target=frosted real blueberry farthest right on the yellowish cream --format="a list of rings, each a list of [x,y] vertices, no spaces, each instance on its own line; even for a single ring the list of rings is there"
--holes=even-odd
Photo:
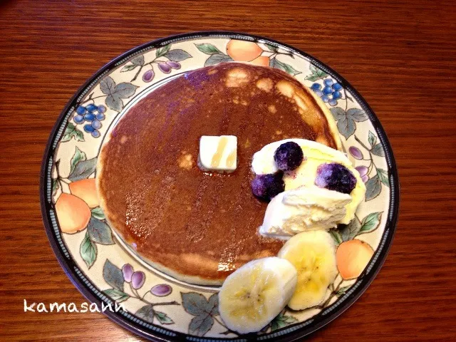
[[[331,162],[317,167],[315,185],[349,194],[356,186],[356,178],[345,166]]]

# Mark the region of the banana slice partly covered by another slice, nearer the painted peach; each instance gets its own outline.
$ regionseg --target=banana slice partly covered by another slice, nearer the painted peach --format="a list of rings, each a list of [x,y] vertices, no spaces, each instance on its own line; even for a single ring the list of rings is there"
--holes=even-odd
[[[298,271],[298,284],[288,306],[302,310],[320,304],[337,276],[331,235],[321,230],[297,234],[284,244],[278,257],[290,261]]]

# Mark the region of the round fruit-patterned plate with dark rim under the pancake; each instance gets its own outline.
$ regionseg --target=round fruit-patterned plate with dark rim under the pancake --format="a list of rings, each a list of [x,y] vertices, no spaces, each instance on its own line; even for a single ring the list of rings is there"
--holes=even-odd
[[[250,43],[229,56],[227,43],[232,39]],[[98,207],[94,178],[105,134],[138,98],[180,73],[246,58],[286,71],[321,96],[367,192],[356,219],[332,232],[341,256],[340,273],[326,300],[304,311],[284,309],[259,333],[238,336],[219,317],[217,288],[172,279],[125,248]],[[98,308],[121,305],[117,312],[105,314],[130,331],[155,341],[293,341],[336,318],[378,273],[398,217],[398,175],[373,111],[331,68],[259,36],[188,33],[133,48],[95,73],[73,96],[44,153],[41,210],[53,251],[73,284]]]

